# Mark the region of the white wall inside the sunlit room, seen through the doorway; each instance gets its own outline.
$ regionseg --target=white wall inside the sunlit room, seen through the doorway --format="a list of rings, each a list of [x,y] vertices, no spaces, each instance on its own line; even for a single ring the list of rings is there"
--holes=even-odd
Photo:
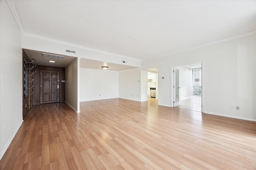
[[[190,98],[192,96],[192,90],[192,68],[189,66],[180,66],[180,100]]]

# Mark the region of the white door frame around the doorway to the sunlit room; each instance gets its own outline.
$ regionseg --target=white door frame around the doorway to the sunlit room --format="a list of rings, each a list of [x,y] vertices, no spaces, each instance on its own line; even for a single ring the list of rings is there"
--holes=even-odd
[[[190,63],[182,63],[182,64],[174,64],[174,65],[171,65],[171,107],[174,107],[174,89],[173,89],[173,86],[174,86],[174,81],[173,81],[173,78],[174,78],[174,75],[173,75],[173,69],[174,67],[176,66],[183,66],[183,65],[189,65],[189,64],[196,64],[196,63],[201,63],[201,66],[202,66],[202,112],[204,113],[204,61],[196,61],[196,62],[190,62]]]

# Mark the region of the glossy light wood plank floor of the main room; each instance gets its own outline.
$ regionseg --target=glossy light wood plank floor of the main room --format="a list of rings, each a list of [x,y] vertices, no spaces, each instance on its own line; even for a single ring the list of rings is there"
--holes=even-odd
[[[108,99],[34,106],[0,169],[256,169],[256,122]]]

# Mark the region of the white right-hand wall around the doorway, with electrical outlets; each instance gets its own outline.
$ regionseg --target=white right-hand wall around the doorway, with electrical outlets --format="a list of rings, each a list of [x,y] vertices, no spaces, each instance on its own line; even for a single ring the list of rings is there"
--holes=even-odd
[[[204,61],[204,112],[256,121],[255,47],[254,34],[143,61],[142,69],[158,67],[158,76],[165,77],[158,82],[158,104],[171,106],[171,65]]]

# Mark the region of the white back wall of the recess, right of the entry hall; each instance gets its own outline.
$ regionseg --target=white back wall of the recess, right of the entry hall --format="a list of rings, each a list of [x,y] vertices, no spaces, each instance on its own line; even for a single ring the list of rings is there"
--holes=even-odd
[[[118,98],[118,72],[80,68],[80,102]]]

